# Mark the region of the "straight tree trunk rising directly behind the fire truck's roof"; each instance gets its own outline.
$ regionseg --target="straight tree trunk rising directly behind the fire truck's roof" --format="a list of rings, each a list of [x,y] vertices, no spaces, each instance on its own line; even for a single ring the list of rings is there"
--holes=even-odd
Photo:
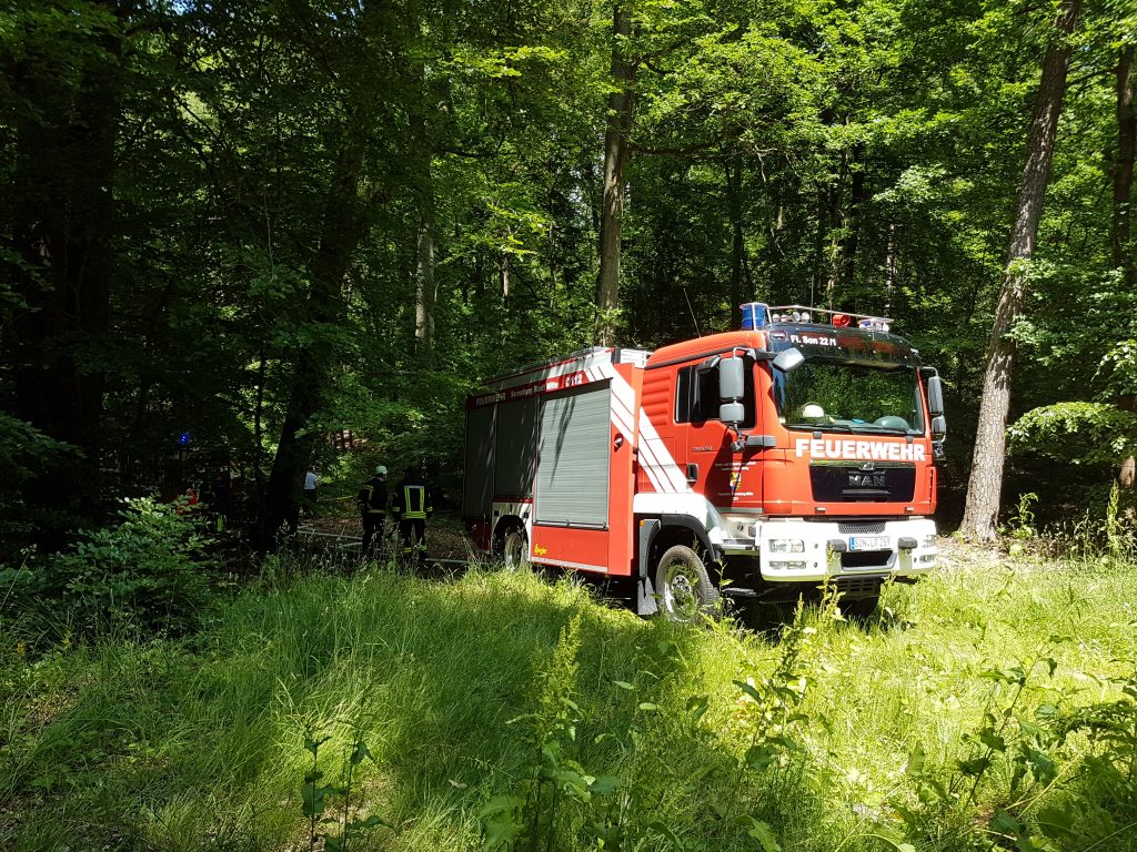
[[[612,77],[615,91],[608,95],[608,126],[604,133],[604,202],[600,210],[600,269],[596,279],[596,342],[615,343],[615,312],[620,308],[620,239],[624,218],[624,172],[628,166],[628,133],[634,106],[636,65],[626,56],[631,16],[617,2],[612,17]]]

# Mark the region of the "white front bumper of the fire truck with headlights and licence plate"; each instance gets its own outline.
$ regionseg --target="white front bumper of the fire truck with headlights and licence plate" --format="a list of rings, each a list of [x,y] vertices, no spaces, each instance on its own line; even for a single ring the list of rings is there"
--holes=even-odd
[[[820,583],[827,577],[911,577],[936,568],[936,523],[767,520],[755,543],[764,580]]]

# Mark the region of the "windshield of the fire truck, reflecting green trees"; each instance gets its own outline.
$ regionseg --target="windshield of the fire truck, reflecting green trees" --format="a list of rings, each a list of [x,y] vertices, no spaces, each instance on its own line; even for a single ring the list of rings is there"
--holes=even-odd
[[[810,359],[791,373],[773,375],[778,418],[787,428],[923,434],[914,367]]]

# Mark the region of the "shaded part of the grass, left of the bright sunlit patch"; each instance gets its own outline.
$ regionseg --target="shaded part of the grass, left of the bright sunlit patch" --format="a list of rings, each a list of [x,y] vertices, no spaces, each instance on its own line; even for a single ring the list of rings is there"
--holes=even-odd
[[[742,843],[737,815],[708,810],[715,791],[772,825],[786,822],[780,799],[795,813],[813,807],[799,778],[778,795],[769,779],[740,787],[739,744],[688,724],[700,688],[690,660],[713,657],[706,632],[597,607],[566,582],[365,569],[250,590],[184,643],[107,643],[60,663],[67,683],[44,696],[57,712],[39,727],[26,716],[6,745],[0,792],[20,811],[0,845],[306,847],[305,738],[331,737],[322,769],[335,779],[358,729],[374,767],[357,807],[401,826],[400,847],[478,847],[478,808],[533,763],[532,725],[518,717],[540,705],[574,616],[581,719],[566,759],[624,779],[645,837],[661,842],[647,827],[659,822],[716,847]],[[564,840],[587,810],[566,811]]]

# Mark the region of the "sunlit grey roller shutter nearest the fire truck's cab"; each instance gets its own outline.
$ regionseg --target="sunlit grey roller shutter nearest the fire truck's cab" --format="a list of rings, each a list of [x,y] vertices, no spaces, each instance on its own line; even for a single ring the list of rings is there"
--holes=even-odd
[[[534,500],[538,524],[607,526],[609,395],[605,383],[545,399]]]

